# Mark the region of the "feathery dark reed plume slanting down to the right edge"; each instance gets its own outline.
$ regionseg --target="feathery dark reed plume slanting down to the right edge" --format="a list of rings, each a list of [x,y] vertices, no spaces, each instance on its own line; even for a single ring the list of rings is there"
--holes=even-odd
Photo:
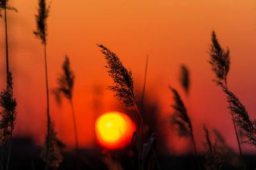
[[[222,87],[223,91],[227,94],[227,101],[230,103],[228,109],[234,117],[236,125],[243,129],[246,140],[243,143],[247,143],[251,146],[256,146],[256,120],[251,120],[244,105],[239,99],[230,92],[226,87]]]

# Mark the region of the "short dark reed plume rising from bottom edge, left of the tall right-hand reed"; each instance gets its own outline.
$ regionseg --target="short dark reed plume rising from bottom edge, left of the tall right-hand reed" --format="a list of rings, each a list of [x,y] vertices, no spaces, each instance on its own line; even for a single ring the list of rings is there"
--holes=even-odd
[[[204,142],[204,146],[207,150],[205,153],[205,160],[207,164],[205,166],[207,169],[220,170],[222,166],[222,162],[221,162],[220,153],[217,150],[216,143],[212,144],[209,136],[209,131],[205,127],[205,125],[204,125],[204,131],[205,131],[205,139],[206,139],[206,141]]]

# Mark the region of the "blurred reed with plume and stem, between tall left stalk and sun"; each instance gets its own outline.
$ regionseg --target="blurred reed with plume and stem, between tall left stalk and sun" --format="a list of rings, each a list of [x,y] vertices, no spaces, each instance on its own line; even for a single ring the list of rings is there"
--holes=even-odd
[[[54,94],[56,94],[56,99],[58,103],[61,103],[60,94],[63,94],[70,103],[72,109],[72,117],[74,123],[74,134],[75,134],[75,142],[76,142],[76,151],[78,152],[78,136],[77,136],[77,125],[76,125],[76,115],[74,111],[74,104],[73,104],[73,87],[74,87],[74,72],[70,69],[70,61],[66,56],[65,61],[62,65],[63,74],[60,75],[58,78],[58,85],[56,89],[54,89]],[[78,154],[78,153],[77,153]]]

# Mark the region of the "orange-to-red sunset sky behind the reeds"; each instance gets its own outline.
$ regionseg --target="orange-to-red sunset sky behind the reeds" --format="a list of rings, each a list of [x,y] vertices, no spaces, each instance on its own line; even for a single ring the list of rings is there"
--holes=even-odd
[[[15,136],[33,136],[42,145],[46,133],[46,98],[43,48],[33,35],[35,0],[10,0],[19,13],[8,11],[10,69],[15,81],[17,124]],[[47,55],[49,86],[56,87],[61,64],[67,54],[76,74],[74,105],[77,113],[79,146],[95,146],[95,119],[106,111],[117,110],[105,60],[95,45],[102,43],[115,52],[134,75],[134,86],[141,89],[145,57],[149,55],[146,99],[161,104],[158,122],[171,153],[185,153],[188,141],[175,138],[168,118],[172,96],[168,85],[180,90],[195,129],[200,152],[204,151],[203,125],[216,128],[237,150],[228,104],[220,87],[212,83],[214,73],[207,63],[214,29],[223,47],[230,48],[231,67],[228,85],[245,104],[252,118],[255,108],[255,1],[52,1],[48,20]],[[1,88],[5,78],[4,22],[0,25]],[[185,99],[178,75],[180,64],[191,71],[191,94]],[[101,89],[100,94],[95,89]],[[74,146],[70,106],[56,106],[51,95],[51,115],[58,137]],[[100,107],[94,106],[97,101]],[[187,147],[187,148],[186,148]],[[243,150],[255,153],[253,147]]]

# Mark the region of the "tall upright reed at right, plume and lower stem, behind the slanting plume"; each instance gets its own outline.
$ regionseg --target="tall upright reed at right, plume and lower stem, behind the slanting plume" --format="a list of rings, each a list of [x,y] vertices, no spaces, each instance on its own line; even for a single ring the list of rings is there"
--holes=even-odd
[[[223,48],[221,48],[220,43],[218,42],[218,39],[216,38],[216,34],[214,31],[212,31],[211,41],[212,41],[212,45],[208,53],[211,57],[209,60],[209,63],[212,65],[212,71],[214,71],[217,78],[214,81],[216,81],[217,85],[224,86],[225,89],[228,89],[227,74],[230,68],[229,49],[227,48],[227,50],[225,51],[223,50]],[[234,130],[236,132],[236,139],[237,139],[237,145],[239,148],[239,153],[240,153],[241,159],[243,159],[243,153],[241,150],[241,145],[240,145],[239,136],[236,129],[236,124],[234,121],[234,116],[233,114],[231,114],[231,116],[232,116],[232,121],[234,125]],[[244,161],[243,161],[243,165],[244,165],[244,169],[246,169]]]

